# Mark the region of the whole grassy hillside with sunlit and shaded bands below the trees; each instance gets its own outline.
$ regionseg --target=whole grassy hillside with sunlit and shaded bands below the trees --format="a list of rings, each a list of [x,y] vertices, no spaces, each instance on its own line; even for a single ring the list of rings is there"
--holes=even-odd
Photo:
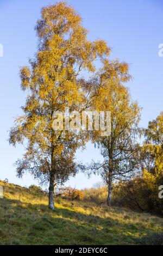
[[[50,211],[45,193],[0,185],[1,245],[133,245],[163,231],[163,219],[149,214],[61,198]]]

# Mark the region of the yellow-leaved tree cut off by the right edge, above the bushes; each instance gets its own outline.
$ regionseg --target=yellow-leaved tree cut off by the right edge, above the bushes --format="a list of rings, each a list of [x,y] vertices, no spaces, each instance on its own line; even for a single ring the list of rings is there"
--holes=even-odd
[[[162,199],[159,198],[159,187],[163,185],[163,114],[149,121],[145,129],[145,142],[141,147],[141,168],[150,196],[150,209],[163,213]]]

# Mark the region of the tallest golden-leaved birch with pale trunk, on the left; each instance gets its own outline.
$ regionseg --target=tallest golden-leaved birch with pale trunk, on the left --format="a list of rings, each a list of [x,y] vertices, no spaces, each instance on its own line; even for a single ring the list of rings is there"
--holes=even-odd
[[[53,113],[81,111],[87,98],[79,80],[82,70],[95,71],[94,60],[108,55],[103,40],[90,42],[80,16],[65,2],[42,8],[36,32],[39,48],[30,68],[21,69],[21,87],[28,89],[24,114],[10,130],[12,145],[23,143],[26,153],[16,162],[17,174],[28,171],[49,182],[49,208],[54,209],[54,186],[77,172],[74,153],[85,139],[74,132],[54,131]]]

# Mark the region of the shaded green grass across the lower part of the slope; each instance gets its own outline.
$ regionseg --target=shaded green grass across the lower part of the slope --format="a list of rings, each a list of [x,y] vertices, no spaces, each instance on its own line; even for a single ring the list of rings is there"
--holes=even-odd
[[[47,205],[0,201],[0,244],[3,245],[131,245],[146,233],[142,223],[86,215]]]

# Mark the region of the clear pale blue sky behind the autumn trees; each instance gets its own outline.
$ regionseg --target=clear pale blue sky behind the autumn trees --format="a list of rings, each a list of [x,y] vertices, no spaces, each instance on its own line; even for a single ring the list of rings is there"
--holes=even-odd
[[[130,64],[134,80],[128,86],[131,96],[139,101],[142,110],[141,125],[147,126],[162,110],[163,57],[158,56],[158,45],[163,43],[162,11],[159,0],[70,0],[83,17],[89,29],[89,39],[102,38],[112,47],[111,58],[119,58]],[[28,64],[28,58],[36,51],[37,38],[34,26],[40,17],[40,8],[54,4],[50,0],[1,0],[0,44],[4,56],[0,57],[1,84],[1,169],[0,179],[29,186],[34,180],[25,175],[16,178],[12,164],[23,151],[21,146],[8,144],[8,130],[14,117],[21,113],[25,94],[20,89],[20,66]],[[84,153],[78,151],[79,160],[89,162],[100,159],[98,150],[91,144]],[[83,174],[70,179],[66,185],[78,188],[91,187],[99,177],[87,179]]]

